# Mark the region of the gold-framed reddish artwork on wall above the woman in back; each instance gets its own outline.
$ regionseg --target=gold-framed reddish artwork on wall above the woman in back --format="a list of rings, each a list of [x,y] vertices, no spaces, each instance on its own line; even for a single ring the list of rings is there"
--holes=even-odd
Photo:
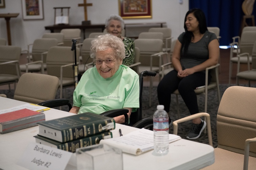
[[[124,19],[152,18],[151,0],[118,0],[119,15]]]

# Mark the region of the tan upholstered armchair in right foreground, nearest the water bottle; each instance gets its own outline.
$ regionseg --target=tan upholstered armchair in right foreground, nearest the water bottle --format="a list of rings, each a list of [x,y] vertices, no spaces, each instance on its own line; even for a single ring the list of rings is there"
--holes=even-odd
[[[255,169],[255,96],[256,88],[252,87],[232,86],[224,92],[217,114],[218,146],[214,149],[215,162],[203,168],[204,170]],[[206,113],[198,113],[174,121],[174,134],[177,134],[177,123],[191,120],[204,114]],[[208,137],[209,135],[211,137],[210,132],[208,130]]]

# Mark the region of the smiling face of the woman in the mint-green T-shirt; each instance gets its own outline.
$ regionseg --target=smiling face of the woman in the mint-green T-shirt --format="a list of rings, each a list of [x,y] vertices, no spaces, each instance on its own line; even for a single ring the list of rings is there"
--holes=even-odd
[[[119,66],[122,64],[122,59],[116,58],[113,53],[112,48],[108,48],[105,51],[98,51],[96,52],[96,60],[107,60],[113,59],[115,60],[113,63],[107,64],[103,61],[101,64],[96,63],[97,71],[99,72],[100,76],[103,78],[110,78],[112,77],[116,71],[118,70]]]

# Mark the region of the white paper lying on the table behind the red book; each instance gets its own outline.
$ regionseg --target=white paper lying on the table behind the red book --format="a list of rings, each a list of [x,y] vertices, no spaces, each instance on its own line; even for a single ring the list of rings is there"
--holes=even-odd
[[[13,111],[16,111],[16,110],[21,110],[21,109],[29,109],[29,110],[34,110],[34,111],[40,111],[40,110],[48,110],[50,108],[28,103],[28,104],[24,104],[24,105],[15,106],[15,107],[11,107],[11,108],[8,108],[8,109],[0,110],[0,114],[9,113],[9,112],[13,112]]]

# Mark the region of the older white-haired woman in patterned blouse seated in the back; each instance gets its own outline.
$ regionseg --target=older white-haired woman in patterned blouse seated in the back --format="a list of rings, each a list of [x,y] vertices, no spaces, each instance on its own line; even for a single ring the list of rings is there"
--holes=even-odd
[[[121,38],[124,42],[125,58],[123,59],[123,65],[131,65],[134,63],[134,41],[131,38],[123,37],[121,35],[124,30],[124,20],[119,15],[110,15],[106,19],[105,24],[108,33]]]

